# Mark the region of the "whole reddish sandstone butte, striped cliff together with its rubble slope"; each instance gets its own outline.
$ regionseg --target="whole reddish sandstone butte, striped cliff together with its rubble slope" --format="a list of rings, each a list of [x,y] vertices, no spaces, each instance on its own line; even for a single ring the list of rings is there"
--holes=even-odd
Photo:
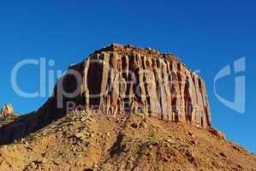
[[[151,48],[97,50],[40,109],[12,112],[0,115],[1,171],[256,170],[253,153],[211,127],[204,80]]]

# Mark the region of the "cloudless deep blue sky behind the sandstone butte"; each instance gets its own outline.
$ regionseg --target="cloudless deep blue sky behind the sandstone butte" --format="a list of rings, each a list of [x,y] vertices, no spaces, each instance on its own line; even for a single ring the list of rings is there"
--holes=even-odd
[[[0,106],[13,103],[21,114],[38,109],[47,97],[19,97],[10,84],[15,63],[25,58],[53,59],[48,69],[65,69],[92,50],[112,42],[152,46],[180,56],[199,69],[211,103],[213,125],[256,152],[256,3],[253,1],[6,1],[0,4]],[[213,78],[241,56],[246,62],[246,113],[227,108],[213,93]],[[39,68],[19,73],[23,90],[39,89]],[[234,97],[234,75],[217,91]]]

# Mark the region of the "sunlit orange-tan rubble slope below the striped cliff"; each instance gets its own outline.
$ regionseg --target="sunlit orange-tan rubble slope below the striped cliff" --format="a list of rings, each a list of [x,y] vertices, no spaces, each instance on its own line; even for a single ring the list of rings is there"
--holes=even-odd
[[[188,124],[80,111],[1,146],[0,170],[255,171],[256,156]]]

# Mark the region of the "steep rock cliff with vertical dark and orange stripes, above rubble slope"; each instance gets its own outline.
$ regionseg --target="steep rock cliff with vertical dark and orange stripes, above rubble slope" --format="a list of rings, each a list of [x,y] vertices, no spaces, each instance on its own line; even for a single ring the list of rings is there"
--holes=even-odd
[[[142,113],[166,121],[211,127],[205,82],[176,56],[111,44],[70,66],[51,101],[68,110],[105,115]]]

